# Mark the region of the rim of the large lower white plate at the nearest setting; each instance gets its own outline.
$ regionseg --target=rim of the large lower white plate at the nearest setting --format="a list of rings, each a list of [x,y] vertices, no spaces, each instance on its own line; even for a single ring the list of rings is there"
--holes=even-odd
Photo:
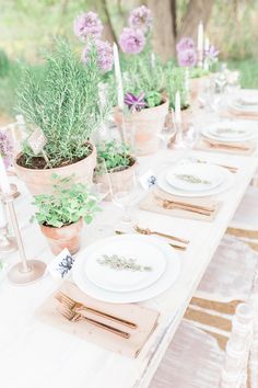
[[[177,252],[175,249],[173,249],[171,246],[165,243],[164,241],[151,237],[151,236],[138,236],[138,235],[122,235],[120,237],[124,238],[137,238],[137,239],[151,239],[153,243],[156,243],[157,246],[161,247],[162,250],[164,250],[164,254],[166,256],[166,267],[167,270],[162,274],[162,276],[153,283],[150,287],[139,289],[137,292],[129,292],[129,293],[114,293],[114,292],[108,292],[104,290],[87,279],[87,283],[83,283],[80,278],[80,271],[81,266],[83,265],[83,254],[85,255],[86,250],[94,249],[94,246],[96,243],[103,242],[103,240],[98,240],[94,242],[93,244],[90,244],[86,247],[78,256],[77,260],[73,264],[72,269],[72,277],[73,282],[77,284],[77,286],[84,293],[86,293],[89,296],[106,301],[106,303],[112,303],[112,304],[130,304],[130,303],[138,303],[138,301],[143,301],[148,299],[152,299],[156,297],[157,295],[166,292],[168,288],[171,288],[177,278],[180,275],[181,271],[181,260],[178,256]],[[108,237],[107,239],[116,239],[119,238],[119,236],[112,236]]]

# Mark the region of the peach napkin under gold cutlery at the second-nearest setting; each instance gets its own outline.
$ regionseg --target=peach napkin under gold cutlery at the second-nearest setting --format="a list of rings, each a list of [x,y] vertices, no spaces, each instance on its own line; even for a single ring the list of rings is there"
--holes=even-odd
[[[163,206],[164,201],[176,202],[180,204],[185,204],[189,207],[192,207],[194,210],[189,209],[181,209],[181,208],[166,208]],[[145,196],[139,204],[142,210],[154,212],[159,214],[164,214],[166,216],[173,217],[181,217],[181,218],[189,218],[196,220],[206,220],[212,221],[221,206],[221,202],[207,199],[207,198],[188,198],[188,197],[179,197],[176,195],[172,195],[162,191],[161,189],[155,187],[151,191],[148,196]],[[196,206],[198,208],[196,208]],[[203,212],[202,214],[201,208],[199,207],[207,207],[210,210]]]

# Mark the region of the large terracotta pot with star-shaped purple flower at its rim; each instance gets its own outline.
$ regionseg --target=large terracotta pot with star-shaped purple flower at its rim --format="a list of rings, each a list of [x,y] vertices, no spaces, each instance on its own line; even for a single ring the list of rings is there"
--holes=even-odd
[[[168,112],[168,99],[163,98],[163,103],[125,117],[126,132],[134,130],[134,147],[137,156],[154,153],[160,144],[161,133]],[[114,119],[121,133],[122,114],[115,109]]]

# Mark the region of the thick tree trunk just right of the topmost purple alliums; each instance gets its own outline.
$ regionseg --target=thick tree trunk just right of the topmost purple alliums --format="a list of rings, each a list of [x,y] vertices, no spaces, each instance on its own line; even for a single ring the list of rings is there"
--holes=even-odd
[[[171,0],[146,0],[154,16],[153,48],[163,60],[167,60],[175,54],[174,23]]]

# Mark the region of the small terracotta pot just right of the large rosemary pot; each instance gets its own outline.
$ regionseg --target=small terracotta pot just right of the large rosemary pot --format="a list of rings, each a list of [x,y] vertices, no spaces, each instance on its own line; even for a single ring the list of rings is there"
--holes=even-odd
[[[108,185],[108,183],[110,183],[113,194],[116,194],[120,191],[127,191],[133,183],[133,173],[136,167],[137,161],[132,158],[132,164],[125,170],[103,175],[96,175],[96,183],[103,183],[104,185]],[[105,201],[112,201],[112,196],[107,195]]]

